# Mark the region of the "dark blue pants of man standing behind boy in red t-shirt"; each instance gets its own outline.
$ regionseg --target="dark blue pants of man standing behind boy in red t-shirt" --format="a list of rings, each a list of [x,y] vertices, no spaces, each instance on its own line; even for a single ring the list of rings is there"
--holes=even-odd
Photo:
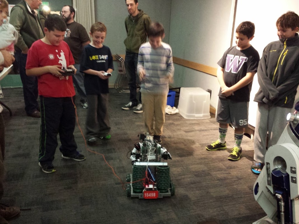
[[[31,114],[39,108],[37,102],[37,77],[26,75],[25,67],[27,61],[27,54],[23,54],[20,50],[16,50],[15,56],[19,66],[20,77],[23,84],[25,111],[27,114]]]

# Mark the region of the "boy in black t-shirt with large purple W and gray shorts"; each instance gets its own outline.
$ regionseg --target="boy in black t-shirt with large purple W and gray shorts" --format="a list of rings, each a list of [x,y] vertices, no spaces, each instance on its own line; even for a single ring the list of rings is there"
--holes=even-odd
[[[231,161],[239,160],[244,128],[248,126],[248,105],[252,80],[257,72],[259,53],[251,46],[254,24],[246,21],[236,29],[237,46],[230,47],[217,63],[217,79],[220,84],[216,120],[219,122],[219,139],[207,145],[208,151],[226,149],[225,136],[228,124],[235,130],[235,144],[228,156]]]

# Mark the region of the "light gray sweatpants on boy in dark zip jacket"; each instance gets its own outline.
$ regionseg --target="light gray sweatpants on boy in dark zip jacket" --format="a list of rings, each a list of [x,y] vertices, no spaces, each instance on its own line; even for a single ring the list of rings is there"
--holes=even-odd
[[[271,145],[277,143],[287,124],[286,115],[291,110],[291,108],[270,107],[264,103],[258,103],[257,120],[253,138],[255,161],[265,163],[267,134],[269,148]]]

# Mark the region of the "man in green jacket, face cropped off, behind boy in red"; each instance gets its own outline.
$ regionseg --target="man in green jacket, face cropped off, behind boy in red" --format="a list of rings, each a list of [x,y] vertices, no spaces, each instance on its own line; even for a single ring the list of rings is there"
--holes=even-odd
[[[25,66],[29,48],[33,42],[44,37],[42,24],[34,11],[39,9],[40,4],[42,4],[40,0],[22,0],[11,9],[9,20],[19,33],[15,56],[23,84],[25,111],[28,116],[36,118],[40,117],[37,103],[37,78],[27,76]]]

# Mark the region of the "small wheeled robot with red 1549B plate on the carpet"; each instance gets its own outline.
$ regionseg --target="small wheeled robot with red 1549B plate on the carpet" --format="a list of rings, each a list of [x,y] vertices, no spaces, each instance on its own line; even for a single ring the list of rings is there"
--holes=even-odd
[[[148,133],[140,138],[143,142],[136,142],[130,155],[133,173],[126,176],[127,196],[157,199],[174,195],[170,167],[161,161],[172,159],[170,153]]]

